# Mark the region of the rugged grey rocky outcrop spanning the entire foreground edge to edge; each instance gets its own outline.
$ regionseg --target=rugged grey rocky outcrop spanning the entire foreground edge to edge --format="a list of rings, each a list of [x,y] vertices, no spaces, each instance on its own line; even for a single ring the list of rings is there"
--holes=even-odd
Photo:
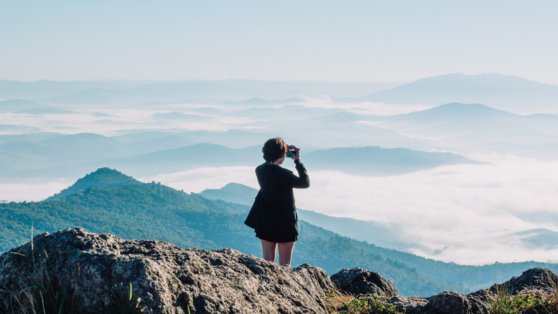
[[[552,292],[558,283],[551,270],[533,268],[466,295],[446,291],[407,298],[397,295],[391,281],[362,268],[345,268],[330,279],[323,269],[308,264],[278,267],[232,249],[182,249],[81,228],[38,235],[32,243],[0,255],[0,263],[0,314],[12,313],[10,307],[18,306],[13,297],[25,298],[39,286],[37,276],[46,273],[55,289],[67,293],[65,302],[71,299],[76,305],[74,313],[107,312],[117,303],[116,292],[128,293],[128,286],[133,298],[130,301],[126,294],[124,301],[129,306],[138,300],[146,313],[327,313],[325,291],[335,285],[354,296],[377,299],[376,294],[407,314],[488,314],[486,295],[496,289],[512,294],[532,288]],[[41,302],[48,293],[40,295]]]

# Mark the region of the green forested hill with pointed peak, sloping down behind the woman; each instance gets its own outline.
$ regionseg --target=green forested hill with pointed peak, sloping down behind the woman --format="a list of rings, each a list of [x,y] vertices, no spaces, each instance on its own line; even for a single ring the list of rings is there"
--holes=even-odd
[[[0,251],[21,245],[35,234],[83,227],[120,238],[168,241],[181,247],[233,248],[261,257],[261,243],[243,224],[249,207],[186,194],[160,183],[142,183],[116,170],[101,168],[42,202],[0,204]],[[354,241],[300,221],[293,265],[309,263],[329,274],[362,267],[393,281],[401,295],[430,296],[445,290],[468,291],[440,282],[405,263],[365,250]]]

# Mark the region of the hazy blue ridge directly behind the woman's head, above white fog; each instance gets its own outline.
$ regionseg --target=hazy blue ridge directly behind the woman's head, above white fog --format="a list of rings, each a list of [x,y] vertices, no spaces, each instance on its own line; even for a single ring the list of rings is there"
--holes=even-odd
[[[179,172],[199,167],[256,167],[264,162],[261,149],[261,145],[233,149],[202,143],[125,160],[104,161],[103,164],[133,173],[134,176]],[[303,162],[312,170],[333,169],[358,175],[398,175],[441,165],[478,163],[452,153],[379,147],[320,149],[305,154]],[[101,163],[96,162],[91,166],[97,165]]]

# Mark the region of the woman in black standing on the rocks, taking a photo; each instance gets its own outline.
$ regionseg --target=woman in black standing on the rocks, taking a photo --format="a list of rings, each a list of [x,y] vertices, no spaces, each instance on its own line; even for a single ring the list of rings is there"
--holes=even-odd
[[[292,171],[281,167],[289,149],[294,152],[295,176]],[[292,189],[306,189],[310,179],[300,162],[300,149],[287,146],[282,138],[268,139],[262,148],[265,163],[256,168],[259,192],[244,224],[256,231],[262,240],[263,258],[275,262],[275,251],[279,248],[279,265],[290,265],[292,249],[299,235],[295,196]]]

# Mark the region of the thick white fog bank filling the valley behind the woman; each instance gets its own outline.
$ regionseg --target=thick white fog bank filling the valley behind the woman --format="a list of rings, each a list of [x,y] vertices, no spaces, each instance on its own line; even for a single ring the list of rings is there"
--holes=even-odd
[[[558,262],[558,250],[528,247],[514,235],[535,228],[558,231],[558,221],[533,223],[517,218],[534,212],[558,213],[558,163],[489,158],[494,162],[488,165],[442,166],[390,177],[312,171],[307,165],[312,183],[310,189],[295,191],[297,207],[398,223],[403,240],[430,249],[415,254],[444,262]],[[151,180],[194,192],[228,182],[257,188],[253,167],[201,168],[142,178]]]

